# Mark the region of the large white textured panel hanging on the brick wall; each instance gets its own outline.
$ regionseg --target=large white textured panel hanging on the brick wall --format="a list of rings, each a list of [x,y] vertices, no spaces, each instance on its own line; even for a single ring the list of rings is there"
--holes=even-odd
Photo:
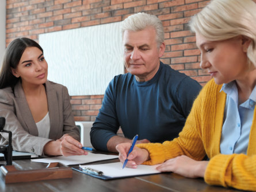
[[[39,35],[48,62],[48,80],[71,96],[103,95],[109,81],[124,73],[120,22]]]

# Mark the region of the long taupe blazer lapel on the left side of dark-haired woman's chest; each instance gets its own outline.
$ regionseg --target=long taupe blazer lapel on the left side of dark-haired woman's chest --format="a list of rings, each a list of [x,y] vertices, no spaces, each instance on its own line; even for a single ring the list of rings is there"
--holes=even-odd
[[[17,111],[17,116],[22,116],[22,118],[19,118],[19,120],[23,122],[23,127],[26,129],[26,131],[29,132],[29,134],[38,136],[36,123],[29,109],[28,102],[26,101],[26,97],[20,81],[14,87],[14,93],[16,96],[16,101],[19,110]]]

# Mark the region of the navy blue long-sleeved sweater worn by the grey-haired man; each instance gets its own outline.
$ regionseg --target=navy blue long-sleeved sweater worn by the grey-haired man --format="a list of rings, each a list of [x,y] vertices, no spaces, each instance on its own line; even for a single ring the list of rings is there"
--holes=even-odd
[[[149,81],[138,82],[127,73],[115,76],[106,89],[102,107],[91,128],[93,147],[106,143],[121,126],[125,138],[164,142],[178,136],[201,85],[161,62]]]

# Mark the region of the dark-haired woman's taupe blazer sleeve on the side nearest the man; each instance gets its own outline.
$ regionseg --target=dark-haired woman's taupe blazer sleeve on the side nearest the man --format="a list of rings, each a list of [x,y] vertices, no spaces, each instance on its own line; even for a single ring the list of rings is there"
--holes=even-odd
[[[63,97],[63,135],[68,134],[80,142],[80,132],[78,127],[75,126],[74,115],[72,113],[70,103],[70,95],[68,94],[67,88],[64,86]]]

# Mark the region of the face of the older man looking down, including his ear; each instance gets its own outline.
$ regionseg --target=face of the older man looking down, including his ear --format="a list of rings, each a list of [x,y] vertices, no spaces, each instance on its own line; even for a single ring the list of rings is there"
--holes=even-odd
[[[127,71],[136,76],[137,81],[148,81],[158,71],[160,61],[165,52],[165,44],[156,43],[154,28],[146,28],[139,32],[125,30],[123,35],[124,60]]]

